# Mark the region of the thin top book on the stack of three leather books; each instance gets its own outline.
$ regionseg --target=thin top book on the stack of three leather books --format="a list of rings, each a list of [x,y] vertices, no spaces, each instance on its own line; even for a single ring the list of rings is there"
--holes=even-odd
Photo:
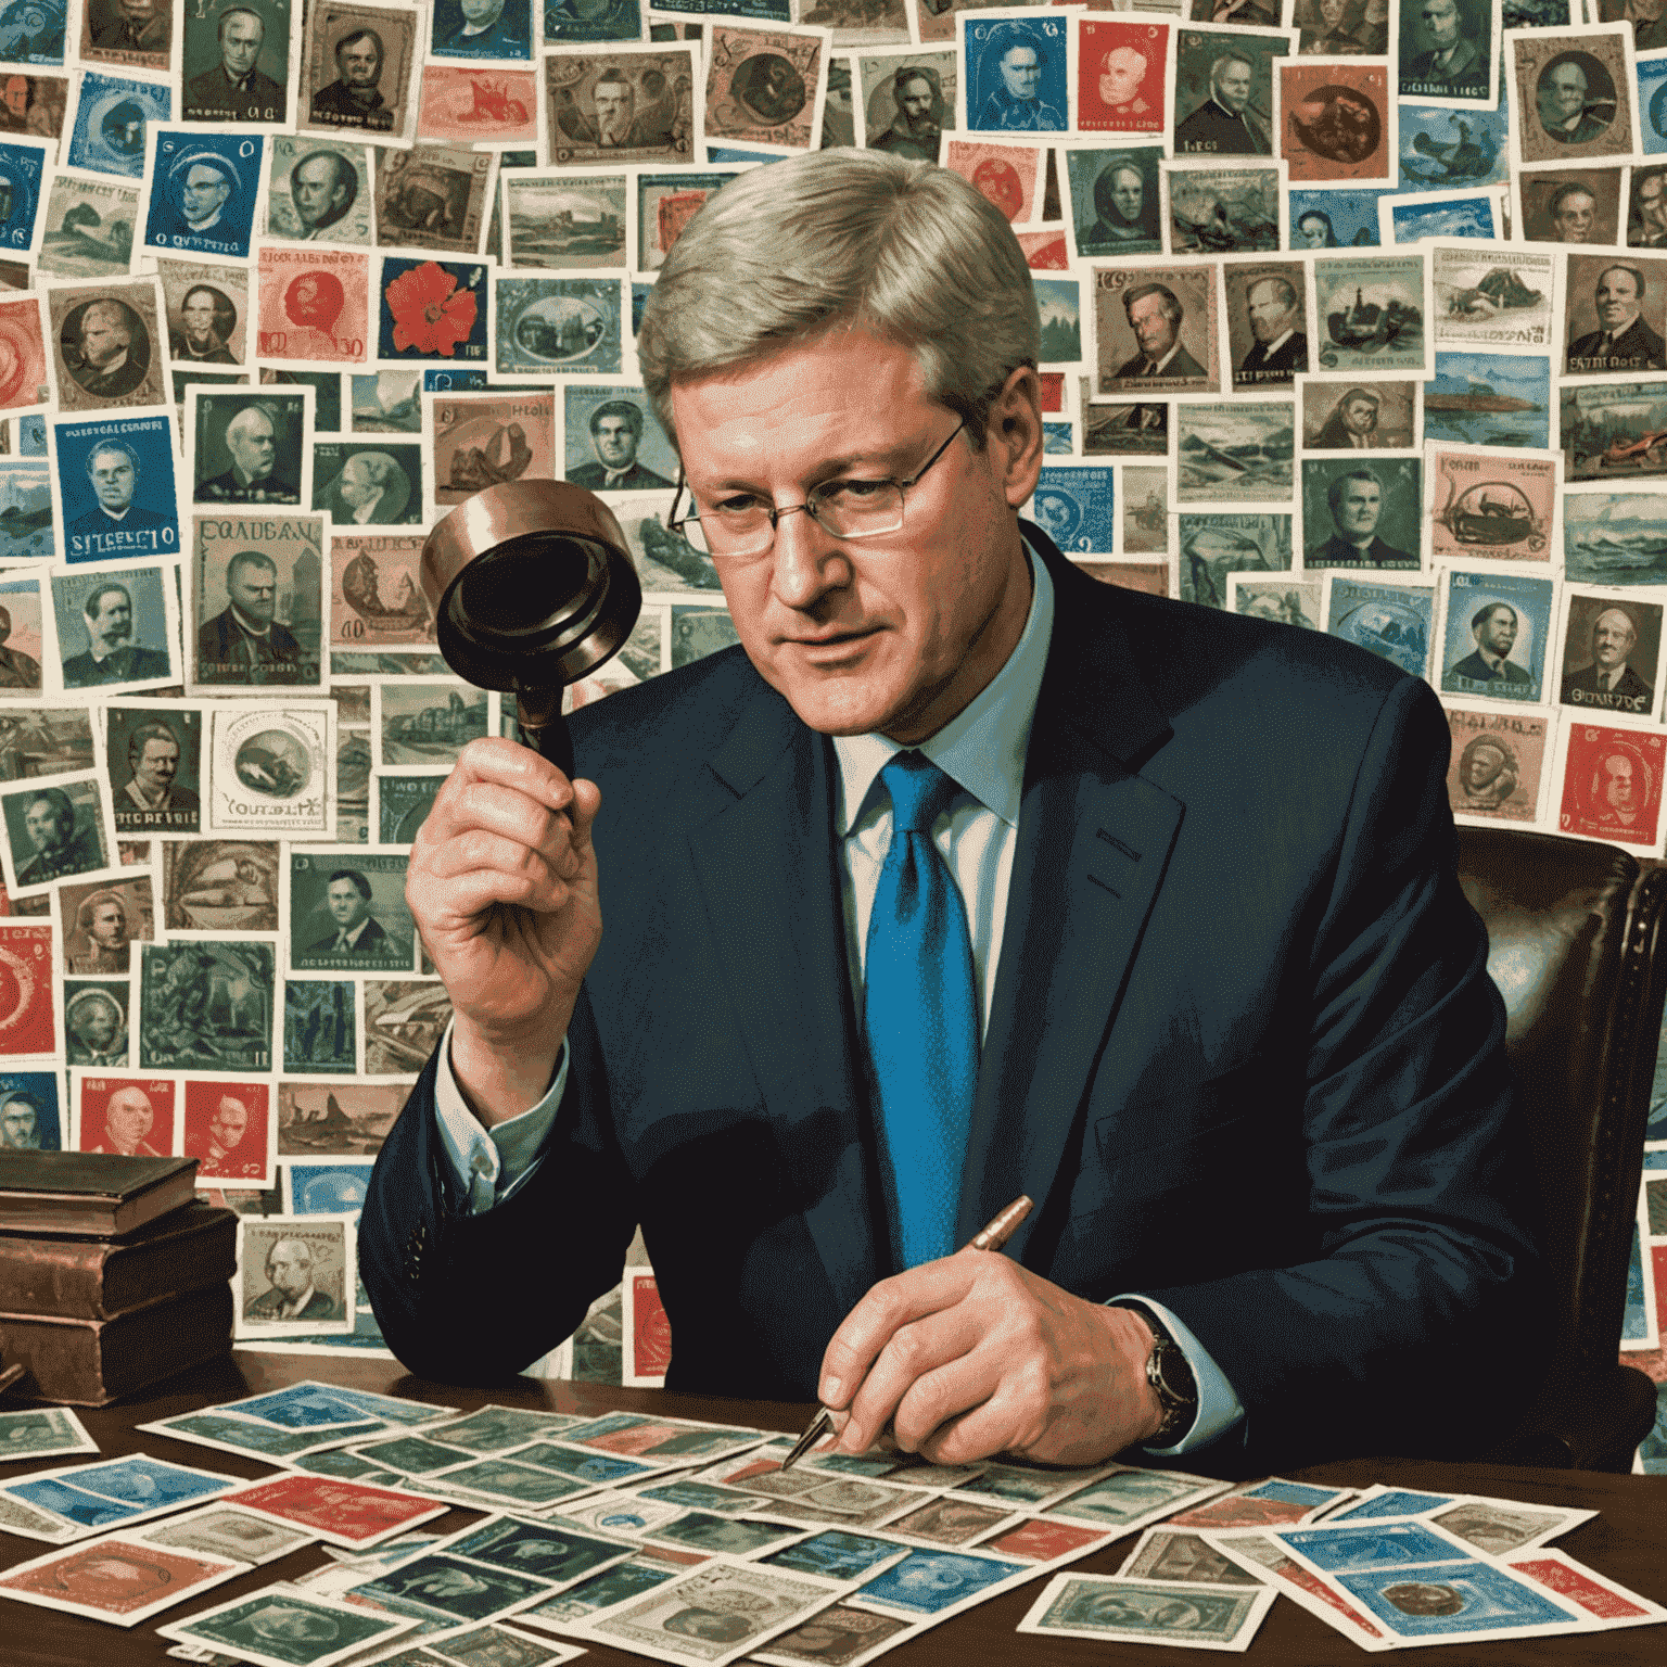
[[[0,1152],[0,1232],[118,1239],[195,1194],[193,1157]]]

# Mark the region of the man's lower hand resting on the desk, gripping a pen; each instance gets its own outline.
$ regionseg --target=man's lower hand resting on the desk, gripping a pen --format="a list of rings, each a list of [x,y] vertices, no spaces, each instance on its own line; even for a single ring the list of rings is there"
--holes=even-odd
[[[890,1420],[897,1445],[934,1464],[1089,1465],[1162,1424],[1150,1349],[1132,1310],[969,1249],[880,1280],[828,1342],[820,1395],[845,1415],[842,1452],[870,1447]]]

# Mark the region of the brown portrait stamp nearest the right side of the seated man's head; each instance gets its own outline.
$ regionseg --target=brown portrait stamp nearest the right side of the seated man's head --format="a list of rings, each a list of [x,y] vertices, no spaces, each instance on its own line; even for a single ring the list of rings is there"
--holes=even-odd
[[[1099,393],[1220,393],[1215,262],[1094,268]]]

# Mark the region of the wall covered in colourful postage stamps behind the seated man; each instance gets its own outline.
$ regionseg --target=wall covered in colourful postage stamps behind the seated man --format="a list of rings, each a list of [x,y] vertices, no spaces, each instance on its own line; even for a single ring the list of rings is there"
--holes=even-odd
[[[448,1012],[403,869],[502,725],[427,527],[608,498],[647,600],[578,702],[735,640],[633,342],[742,170],[962,173],[1069,555],[1429,678],[1460,822],[1662,854],[1660,0],[67,3],[0,12],[0,1139],[200,1157],[250,1345],[380,1349],[353,1215]],[[1659,1379],[1660,1297],[1640,1202]],[[665,1350],[635,1269],[543,1369]]]

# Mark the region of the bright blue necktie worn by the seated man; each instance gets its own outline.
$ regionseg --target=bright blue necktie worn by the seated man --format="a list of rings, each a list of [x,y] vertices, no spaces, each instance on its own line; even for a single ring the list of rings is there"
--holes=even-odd
[[[919,752],[897,753],[880,780],[892,795],[892,845],[869,919],[864,1017],[892,1244],[904,1267],[919,1267],[955,1249],[979,999],[967,905],[932,844],[955,782]]]

